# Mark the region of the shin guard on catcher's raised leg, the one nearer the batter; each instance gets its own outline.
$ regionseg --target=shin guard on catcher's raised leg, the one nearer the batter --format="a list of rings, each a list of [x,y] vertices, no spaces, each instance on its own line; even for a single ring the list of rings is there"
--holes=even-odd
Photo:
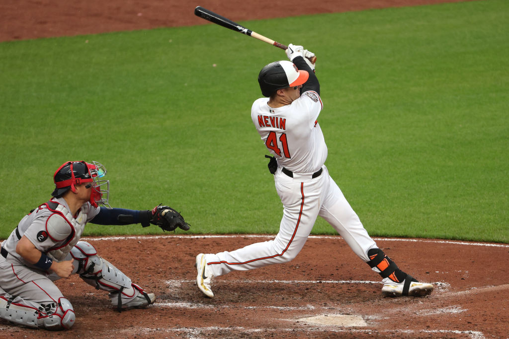
[[[131,279],[107,260],[99,257],[90,243],[78,241],[71,249],[71,255],[79,261],[77,273],[88,284],[108,292],[122,291],[124,294],[134,295]]]

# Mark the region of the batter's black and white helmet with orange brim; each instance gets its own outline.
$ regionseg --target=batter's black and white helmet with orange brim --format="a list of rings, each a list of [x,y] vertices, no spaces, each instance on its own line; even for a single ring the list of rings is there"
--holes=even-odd
[[[265,97],[270,97],[276,90],[302,85],[309,73],[298,70],[294,63],[287,60],[274,61],[260,71],[258,82]]]

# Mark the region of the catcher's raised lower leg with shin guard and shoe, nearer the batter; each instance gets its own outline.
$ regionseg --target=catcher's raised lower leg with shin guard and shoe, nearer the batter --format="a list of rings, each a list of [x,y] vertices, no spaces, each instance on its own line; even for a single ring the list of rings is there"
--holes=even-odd
[[[154,293],[146,293],[131,282],[121,270],[97,255],[90,243],[78,241],[71,255],[78,262],[77,273],[87,284],[109,292],[111,303],[120,312],[128,307],[147,306],[154,302]]]

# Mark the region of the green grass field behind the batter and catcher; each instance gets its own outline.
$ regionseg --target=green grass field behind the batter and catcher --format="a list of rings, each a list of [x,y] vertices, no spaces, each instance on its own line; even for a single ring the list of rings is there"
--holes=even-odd
[[[488,0],[242,23],[317,54],[326,165],[372,236],[507,243],[508,14]],[[114,207],[168,204],[192,233],[277,233],[250,120],[277,59],[213,24],[0,43],[0,238],[67,160],[104,164]],[[334,231],[319,219],[313,233]]]

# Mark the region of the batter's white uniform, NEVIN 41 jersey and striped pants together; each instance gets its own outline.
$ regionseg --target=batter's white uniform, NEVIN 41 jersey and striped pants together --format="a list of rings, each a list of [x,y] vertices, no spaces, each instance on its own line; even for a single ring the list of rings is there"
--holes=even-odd
[[[251,119],[278,163],[274,184],[284,208],[279,232],[274,240],[206,254],[208,269],[219,276],[288,262],[302,249],[318,216],[345,239],[359,258],[369,261],[367,251],[376,248],[376,243],[324,165],[327,146],[317,121],[323,107],[320,96],[308,90],[292,104],[279,108],[269,107],[268,101],[261,98],[253,103]],[[292,171],[292,176],[284,173],[283,167]]]

